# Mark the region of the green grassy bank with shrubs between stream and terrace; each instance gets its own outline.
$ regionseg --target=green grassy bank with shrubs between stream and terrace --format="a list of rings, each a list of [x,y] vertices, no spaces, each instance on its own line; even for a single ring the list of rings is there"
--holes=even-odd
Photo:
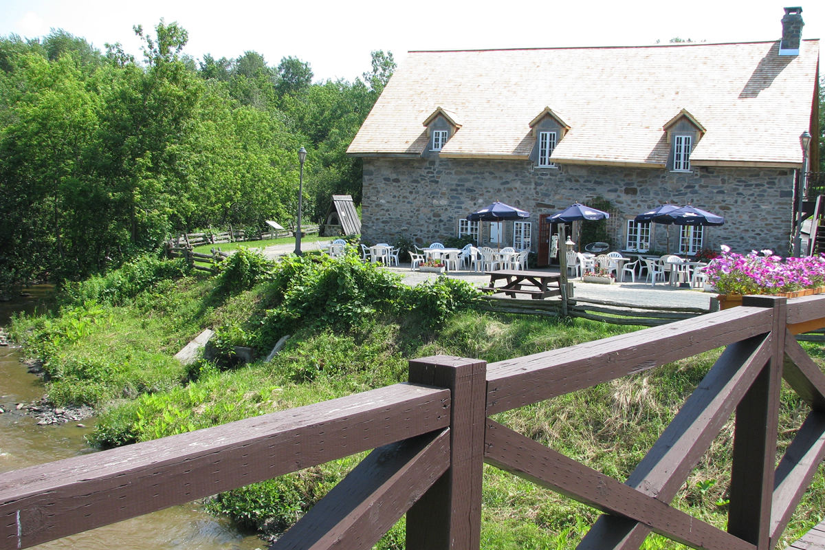
[[[298,407],[406,379],[407,361],[426,355],[488,362],[592,341],[625,331],[578,319],[549,321],[472,309],[474,290],[450,280],[411,289],[355,257],[287,257],[273,265],[248,251],[200,279],[176,262],[144,260],[68,289],[54,317],[21,317],[13,334],[45,358],[57,403],[89,402],[104,412],[95,444],[152,440],[248,416]],[[230,367],[172,360],[205,327],[219,348],[252,346],[269,364]],[[812,347],[819,357],[821,350]],[[592,468],[625,479],[713,364],[718,352],[621,378],[496,417]],[[783,389],[780,451],[805,408]],[[691,515],[724,529],[733,437],[728,423],[676,497]],[[294,523],[360,456],[221,494],[216,514],[276,534]],[[483,548],[575,548],[598,513],[506,472],[485,467]],[[790,538],[825,510],[822,472],[790,526]],[[403,548],[403,520],[378,548]],[[681,548],[652,536],[643,548]]]

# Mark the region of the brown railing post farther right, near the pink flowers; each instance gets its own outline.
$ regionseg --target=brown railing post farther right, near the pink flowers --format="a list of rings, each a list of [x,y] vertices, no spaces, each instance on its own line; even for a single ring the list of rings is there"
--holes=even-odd
[[[745,296],[742,306],[773,309],[771,360],[736,407],[728,533],[771,548],[771,504],[776,468],[782,364],[785,355],[785,298]]]

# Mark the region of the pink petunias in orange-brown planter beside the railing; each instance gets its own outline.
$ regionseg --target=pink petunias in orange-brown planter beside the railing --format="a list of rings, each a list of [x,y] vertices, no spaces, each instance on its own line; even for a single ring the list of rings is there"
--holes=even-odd
[[[771,250],[742,255],[722,245],[722,254],[707,270],[708,282],[719,292],[719,308],[742,304],[746,294],[799,298],[825,292],[825,257],[785,258]]]

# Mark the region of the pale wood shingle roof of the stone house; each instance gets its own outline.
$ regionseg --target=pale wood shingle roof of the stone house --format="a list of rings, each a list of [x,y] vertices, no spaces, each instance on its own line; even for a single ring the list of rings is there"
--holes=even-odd
[[[419,155],[424,120],[450,106],[461,128],[442,157],[526,159],[547,107],[570,130],[553,159],[663,167],[663,129],[687,110],[707,130],[696,165],[799,165],[819,41],[780,56],[779,41],[633,48],[410,52],[353,139],[356,156]]]

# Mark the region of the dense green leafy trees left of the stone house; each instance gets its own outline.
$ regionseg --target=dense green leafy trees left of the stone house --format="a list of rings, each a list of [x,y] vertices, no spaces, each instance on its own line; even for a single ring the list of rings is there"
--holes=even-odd
[[[347,146],[395,68],[314,82],[310,64],[183,54],[188,33],[134,26],[143,59],[58,29],[0,37],[0,284],[76,280],[198,228],[293,224],[297,150],[305,217],[333,193],[361,200]]]

